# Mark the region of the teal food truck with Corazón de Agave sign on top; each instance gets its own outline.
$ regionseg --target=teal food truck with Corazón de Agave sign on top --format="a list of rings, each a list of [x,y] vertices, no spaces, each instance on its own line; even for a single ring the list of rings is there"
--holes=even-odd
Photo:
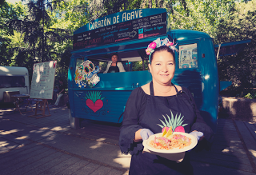
[[[133,71],[148,60],[146,48],[157,38],[177,42],[172,82],[194,95],[206,123],[215,130],[218,118],[218,68],[213,38],[194,30],[171,30],[166,9],[138,9],[110,14],[74,31],[68,72],[70,125],[81,119],[122,122],[133,89],[152,81],[149,70]],[[126,72],[101,74],[117,53]]]

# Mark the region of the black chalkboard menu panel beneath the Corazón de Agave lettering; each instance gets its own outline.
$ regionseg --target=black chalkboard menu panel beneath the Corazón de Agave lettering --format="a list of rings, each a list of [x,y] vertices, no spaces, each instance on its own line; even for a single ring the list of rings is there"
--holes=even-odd
[[[118,20],[114,18],[115,22]],[[102,25],[90,22],[89,28]],[[106,22],[108,22],[106,20]],[[107,24],[107,23],[106,23]],[[74,34],[73,50],[166,34],[166,12]]]

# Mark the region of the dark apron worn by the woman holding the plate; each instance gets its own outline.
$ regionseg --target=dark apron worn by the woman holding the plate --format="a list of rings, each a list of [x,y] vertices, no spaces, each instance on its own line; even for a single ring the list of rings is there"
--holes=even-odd
[[[150,82],[150,96],[146,103],[145,113],[139,118],[138,125],[150,129],[153,133],[161,133],[162,127],[159,125],[172,121],[174,128],[183,128],[185,133],[190,133],[191,126],[196,119],[193,106],[187,100],[189,97],[186,93],[178,92],[176,86],[174,88],[177,92],[174,96],[154,96],[153,82]],[[130,174],[193,174],[190,153],[186,153],[181,163],[176,163],[176,161],[170,161],[154,154],[139,152],[132,156]]]

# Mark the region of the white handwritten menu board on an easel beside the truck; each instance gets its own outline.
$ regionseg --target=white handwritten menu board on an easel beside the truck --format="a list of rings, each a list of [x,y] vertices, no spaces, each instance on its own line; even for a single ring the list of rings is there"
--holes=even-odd
[[[53,99],[57,61],[35,63],[30,98]]]

